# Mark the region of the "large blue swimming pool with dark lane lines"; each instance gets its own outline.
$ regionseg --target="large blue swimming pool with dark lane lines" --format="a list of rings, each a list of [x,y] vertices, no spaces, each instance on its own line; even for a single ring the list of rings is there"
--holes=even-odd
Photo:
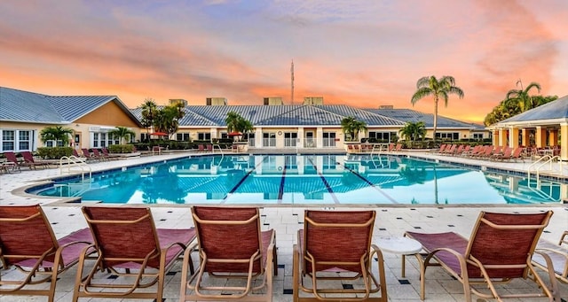
[[[369,155],[202,156],[93,174],[28,192],[112,204],[540,204],[567,184]]]

